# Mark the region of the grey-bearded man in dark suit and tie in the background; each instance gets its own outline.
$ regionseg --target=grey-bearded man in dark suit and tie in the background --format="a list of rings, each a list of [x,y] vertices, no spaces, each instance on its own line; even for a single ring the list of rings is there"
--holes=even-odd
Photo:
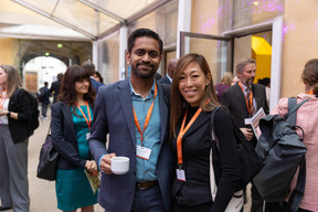
[[[255,72],[255,60],[242,59],[236,65],[236,75],[240,82],[226,88],[220,98],[220,103],[227,107],[237,126],[254,147],[257,139],[252,128],[245,125],[245,119],[251,118],[261,107],[263,107],[265,114],[269,113],[265,86],[253,84]],[[251,212],[262,212],[263,202],[256,187],[252,186]]]

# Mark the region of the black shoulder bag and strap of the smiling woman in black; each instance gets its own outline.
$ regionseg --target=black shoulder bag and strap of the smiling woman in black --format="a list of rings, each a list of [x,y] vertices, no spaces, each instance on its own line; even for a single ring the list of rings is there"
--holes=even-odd
[[[219,139],[215,135],[214,129],[214,116],[220,108],[225,109],[224,107],[215,107],[215,109],[213,109],[211,113],[211,126],[212,126],[211,138],[212,141],[214,140],[216,142],[218,148],[219,148]],[[237,127],[232,116],[231,118],[232,118],[232,130],[236,139],[239,165],[241,170],[241,180],[240,184],[237,184],[236,188],[236,191],[240,191],[243,188],[245,188],[253,180],[253,178],[262,170],[264,163],[256,153],[252,144],[246,139],[244,134]]]

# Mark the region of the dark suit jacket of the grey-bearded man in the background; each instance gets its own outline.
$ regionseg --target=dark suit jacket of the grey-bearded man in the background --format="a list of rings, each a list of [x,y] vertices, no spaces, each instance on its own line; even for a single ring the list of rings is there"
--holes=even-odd
[[[259,84],[252,85],[253,97],[255,97],[257,108],[256,112],[263,107],[265,114],[269,114],[269,108],[266,100],[266,91],[265,86]],[[242,88],[239,84],[235,84],[229,88],[226,88],[220,98],[220,103],[225,106],[233,116],[236,125],[242,128],[245,127],[245,118],[250,117],[245,96],[242,92]],[[256,138],[251,141],[253,146],[256,145]]]

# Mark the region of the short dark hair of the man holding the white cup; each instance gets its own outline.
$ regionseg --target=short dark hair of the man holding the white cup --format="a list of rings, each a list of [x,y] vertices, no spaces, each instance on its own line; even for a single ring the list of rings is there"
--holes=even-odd
[[[159,50],[160,50],[160,55],[162,54],[162,49],[163,49],[163,42],[160,39],[159,34],[157,34],[156,32],[153,32],[150,29],[146,29],[146,28],[140,28],[135,30],[128,38],[128,52],[131,53],[131,50],[135,45],[135,41],[136,39],[140,38],[140,36],[149,36],[155,39],[156,41],[158,41],[159,43]]]

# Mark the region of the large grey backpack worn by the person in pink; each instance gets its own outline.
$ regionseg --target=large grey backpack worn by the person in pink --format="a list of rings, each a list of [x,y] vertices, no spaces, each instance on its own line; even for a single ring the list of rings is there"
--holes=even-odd
[[[253,179],[259,194],[267,202],[282,202],[289,194],[290,182],[300,165],[297,188],[289,198],[289,210],[297,211],[304,197],[306,183],[307,151],[303,139],[305,132],[296,126],[297,109],[308,99],[297,105],[296,98],[288,98],[288,114],[267,115],[259,120],[262,131],[256,145],[256,152],[264,161],[262,171]],[[295,129],[300,128],[303,137],[299,138]]]

